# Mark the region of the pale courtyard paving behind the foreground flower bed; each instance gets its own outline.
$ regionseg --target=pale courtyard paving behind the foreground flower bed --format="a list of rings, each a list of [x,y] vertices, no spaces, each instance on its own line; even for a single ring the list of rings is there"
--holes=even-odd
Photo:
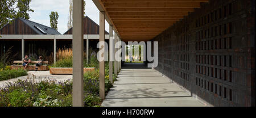
[[[46,81],[46,80],[51,80],[51,81],[54,80],[56,82],[65,82],[72,79],[72,75],[52,75],[49,73],[49,71],[28,71],[28,75],[26,76],[13,78],[6,81],[0,81],[0,88],[7,86],[9,82],[14,83],[19,79],[20,80],[34,79],[35,82]]]

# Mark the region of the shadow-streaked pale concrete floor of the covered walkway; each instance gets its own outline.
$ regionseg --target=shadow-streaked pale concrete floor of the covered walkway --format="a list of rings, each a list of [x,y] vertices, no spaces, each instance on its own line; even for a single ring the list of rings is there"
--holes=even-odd
[[[204,104],[155,70],[122,69],[101,106],[203,107]]]

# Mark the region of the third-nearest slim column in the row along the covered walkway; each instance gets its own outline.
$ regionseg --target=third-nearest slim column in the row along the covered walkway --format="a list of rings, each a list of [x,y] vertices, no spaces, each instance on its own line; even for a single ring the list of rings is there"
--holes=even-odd
[[[109,81],[113,83],[113,26],[109,25]]]

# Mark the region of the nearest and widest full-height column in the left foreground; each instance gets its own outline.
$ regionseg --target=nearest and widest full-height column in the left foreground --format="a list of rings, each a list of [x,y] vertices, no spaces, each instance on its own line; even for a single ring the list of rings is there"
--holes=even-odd
[[[84,0],[73,1],[73,107],[84,106]]]

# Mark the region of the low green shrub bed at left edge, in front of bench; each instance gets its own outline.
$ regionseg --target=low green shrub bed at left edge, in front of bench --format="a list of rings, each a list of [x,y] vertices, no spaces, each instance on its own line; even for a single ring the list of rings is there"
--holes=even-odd
[[[0,71],[0,81],[16,78],[20,76],[27,75],[27,70],[2,70]]]

